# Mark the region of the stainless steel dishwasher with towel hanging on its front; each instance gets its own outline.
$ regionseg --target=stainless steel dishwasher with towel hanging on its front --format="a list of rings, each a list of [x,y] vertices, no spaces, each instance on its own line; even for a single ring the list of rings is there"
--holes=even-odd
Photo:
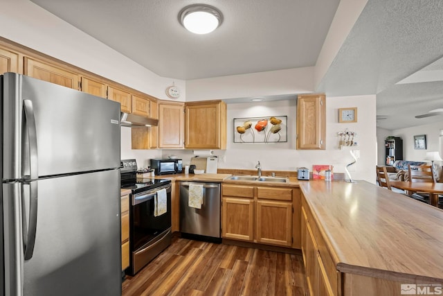
[[[188,205],[189,185],[201,184],[201,209]],[[180,232],[182,237],[221,243],[220,184],[208,182],[180,182]]]

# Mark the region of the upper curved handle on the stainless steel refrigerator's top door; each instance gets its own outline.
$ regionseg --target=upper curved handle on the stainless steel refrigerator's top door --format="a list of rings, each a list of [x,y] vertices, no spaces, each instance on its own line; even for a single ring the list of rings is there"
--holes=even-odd
[[[37,128],[35,126],[33,102],[30,100],[24,100],[23,107],[25,112],[26,128],[28,130],[30,180],[35,180],[38,177],[39,171],[37,153]]]

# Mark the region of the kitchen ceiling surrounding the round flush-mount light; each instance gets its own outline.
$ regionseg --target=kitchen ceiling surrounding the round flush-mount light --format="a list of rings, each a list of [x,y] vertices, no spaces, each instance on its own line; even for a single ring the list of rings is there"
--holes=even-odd
[[[195,35],[178,21],[192,0],[32,1],[159,76],[183,80],[314,66],[339,2],[202,0],[224,22]]]

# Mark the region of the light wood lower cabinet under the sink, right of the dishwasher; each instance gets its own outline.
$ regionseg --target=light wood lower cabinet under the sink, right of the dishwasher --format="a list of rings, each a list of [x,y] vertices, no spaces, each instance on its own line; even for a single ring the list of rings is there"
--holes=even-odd
[[[287,187],[223,184],[221,236],[291,247],[293,191],[298,190]]]

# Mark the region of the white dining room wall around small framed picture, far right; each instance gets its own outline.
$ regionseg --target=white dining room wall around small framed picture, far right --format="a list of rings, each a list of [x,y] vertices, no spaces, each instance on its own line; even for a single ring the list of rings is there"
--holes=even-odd
[[[393,130],[396,137],[403,139],[403,158],[417,162],[423,162],[426,152],[441,151],[440,130],[443,130],[443,121],[426,125],[417,125],[412,128]],[[414,149],[414,136],[426,134],[426,150]],[[437,162],[436,162],[437,164]]]

